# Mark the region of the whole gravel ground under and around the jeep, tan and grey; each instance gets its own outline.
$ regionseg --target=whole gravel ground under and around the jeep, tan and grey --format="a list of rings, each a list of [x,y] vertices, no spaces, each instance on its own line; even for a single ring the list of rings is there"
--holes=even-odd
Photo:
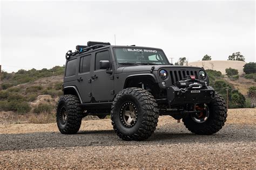
[[[255,168],[256,109],[230,109],[227,123],[199,136],[161,116],[146,141],[123,141],[110,119],[83,121],[78,134],[55,124],[0,125],[0,168]]]

